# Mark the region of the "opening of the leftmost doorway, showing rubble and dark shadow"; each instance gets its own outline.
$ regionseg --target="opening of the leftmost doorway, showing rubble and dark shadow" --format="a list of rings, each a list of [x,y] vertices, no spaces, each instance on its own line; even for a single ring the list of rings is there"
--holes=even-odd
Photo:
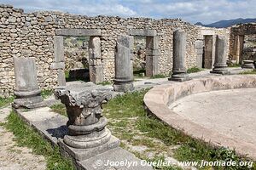
[[[66,82],[90,82],[89,40],[90,37],[63,38]]]

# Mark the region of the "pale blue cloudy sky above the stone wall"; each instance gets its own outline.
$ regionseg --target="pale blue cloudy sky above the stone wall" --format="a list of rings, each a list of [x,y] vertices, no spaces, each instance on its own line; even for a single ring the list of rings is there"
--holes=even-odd
[[[58,10],[71,14],[182,18],[209,24],[218,20],[256,18],[256,0],[0,0],[26,12]]]

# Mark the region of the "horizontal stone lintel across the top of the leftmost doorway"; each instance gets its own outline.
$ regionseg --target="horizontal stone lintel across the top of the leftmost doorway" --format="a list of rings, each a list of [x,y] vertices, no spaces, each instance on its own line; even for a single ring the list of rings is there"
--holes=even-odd
[[[55,31],[57,36],[101,36],[100,29],[58,29]]]

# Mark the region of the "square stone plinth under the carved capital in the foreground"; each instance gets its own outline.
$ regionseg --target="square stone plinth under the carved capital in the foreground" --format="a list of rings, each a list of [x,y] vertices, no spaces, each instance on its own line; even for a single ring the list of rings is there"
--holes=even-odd
[[[77,149],[70,147],[65,144],[62,139],[59,139],[58,144],[60,145],[62,154],[69,155],[73,158],[73,160],[76,161],[84,161],[86,159],[89,159],[90,157],[102,154],[108,150],[119,147],[120,141],[114,136],[111,136],[107,143],[88,149]]]

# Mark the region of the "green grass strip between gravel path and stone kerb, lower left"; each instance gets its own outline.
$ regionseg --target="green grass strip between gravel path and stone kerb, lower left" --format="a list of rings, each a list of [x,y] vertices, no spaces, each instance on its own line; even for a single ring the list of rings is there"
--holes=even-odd
[[[74,169],[70,160],[61,157],[58,148],[53,148],[52,145],[36,133],[32,127],[26,125],[14,111],[10,113],[7,120],[8,122],[5,122],[3,126],[15,134],[15,141],[18,146],[31,148],[34,154],[44,156],[47,162],[47,169]]]

